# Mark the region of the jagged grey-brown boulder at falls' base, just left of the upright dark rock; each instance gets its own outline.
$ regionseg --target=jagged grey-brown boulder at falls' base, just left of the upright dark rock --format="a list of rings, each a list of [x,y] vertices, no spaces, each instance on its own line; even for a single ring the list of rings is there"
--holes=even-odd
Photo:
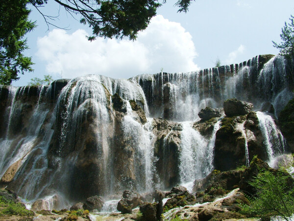
[[[119,201],[117,210],[125,213],[132,213],[132,209],[143,204],[142,196],[139,194],[125,190],[123,191],[123,198]]]

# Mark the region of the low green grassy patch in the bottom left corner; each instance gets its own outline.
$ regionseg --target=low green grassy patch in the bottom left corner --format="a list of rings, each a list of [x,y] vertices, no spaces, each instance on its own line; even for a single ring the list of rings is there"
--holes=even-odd
[[[18,216],[33,216],[34,212],[27,210],[22,203],[15,203],[12,200],[6,199],[0,196],[0,207],[4,209],[0,210],[0,215],[18,215]]]

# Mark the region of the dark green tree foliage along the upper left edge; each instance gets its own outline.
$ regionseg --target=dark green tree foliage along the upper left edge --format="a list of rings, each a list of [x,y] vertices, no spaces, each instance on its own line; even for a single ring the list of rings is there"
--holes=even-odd
[[[27,3],[0,0],[0,84],[10,85],[19,79],[18,74],[33,71],[31,58],[23,55],[27,49],[24,36],[35,27],[35,23],[28,21]]]

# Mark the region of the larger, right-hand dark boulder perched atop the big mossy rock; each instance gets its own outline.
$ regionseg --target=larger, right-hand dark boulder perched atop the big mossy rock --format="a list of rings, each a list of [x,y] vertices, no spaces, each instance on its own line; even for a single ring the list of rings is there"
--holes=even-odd
[[[248,114],[252,108],[252,103],[241,101],[236,98],[227,99],[223,102],[223,110],[228,117]]]

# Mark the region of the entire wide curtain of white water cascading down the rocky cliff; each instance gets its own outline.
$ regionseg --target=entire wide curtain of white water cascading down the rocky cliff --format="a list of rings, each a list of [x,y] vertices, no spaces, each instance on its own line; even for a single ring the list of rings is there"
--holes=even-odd
[[[213,170],[216,134],[221,126],[219,119],[209,135],[201,135],[193,128],[200,120],[198,112],[206,106],[221,108],[225,99],[236,97],[253,102],[257,109],[269,101],[277,116],[293,97],[289,85],[294,82],[288,75],[287,61],[276,56],[262,70],[254,57],[220,68],[143,74],[128,80],[81,76],[66,82],[58,92],[58,82],[37,89],[1,86],[0,96],[6,103],[1,109],[0,176],[14,165],[17,182],[12,187],[31,201],[75,196],[80,186],[90,196],[108,196],[127,188],[151,192],[169,186],[170,177],[192,189],[195,179]],[[111,96],[116,93],[125,109],[121,114],[112,103]],[[140,122],[130,100],[144,110],[147,123]],[[271,162],[285,152],[285,141],[270,115],[257,112],[257,116]],[[181,129],[167,127],[162,137],[156,137],[153,122],[158,117],[163,118],[163,124],[170,120]],[[239,130],[245,137],[248,165],[243,123]],[[179,139],[178,149],[170,149],[174,136]],[[172,154],[178,154],[178,162],[168,162],[174,159]],[[164,174],[158,172],[160,162]],[[171,166],[178,177],[169,174]],[[90,176],[84,175],[89,171]],[[113,210],[112,203],[116,202],[109,202],[105,205],[109,209],[103,210]]]

